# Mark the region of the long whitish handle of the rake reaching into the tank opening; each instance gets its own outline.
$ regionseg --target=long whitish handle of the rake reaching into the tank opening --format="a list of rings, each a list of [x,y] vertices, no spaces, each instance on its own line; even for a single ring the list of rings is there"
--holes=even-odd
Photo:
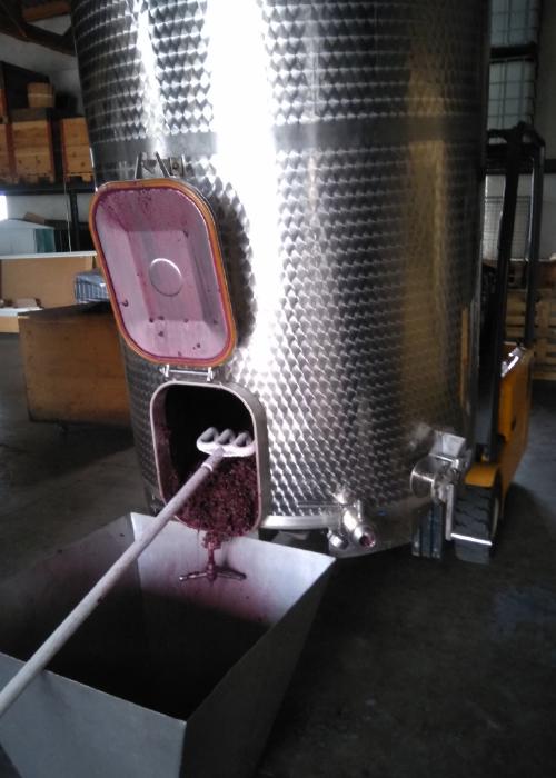
[[[77,605],[73,610],[63,619],[61,625],[54,629],[47,640],[40,646],[32,657],[23,665],[13,678],[0,691],[0,717],[8,710],[29,684],[46,668],[49,661],[58,654],[60,648],[69,640],[73,632],[92,614],[95,608],[105,599],[110,589],[118,582],[123,572],[132,565],[138,557],[150,546],[157,535],[162,531],[173,515],[181,508],[183,502],[200,487],[208,476],[218,467],[225,457],[221,448],[216,448],[211,456],[202,462],[200,468],[193,472],[181,489],[171,498],[152,519],[152,525],[121,555],[112,567],[105,572],[102,578],[96,584],[88,595]]]

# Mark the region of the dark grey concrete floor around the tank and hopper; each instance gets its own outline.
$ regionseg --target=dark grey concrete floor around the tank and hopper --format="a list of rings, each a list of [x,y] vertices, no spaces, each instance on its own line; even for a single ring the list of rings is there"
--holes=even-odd
[[[3,577],[145,506],[129,433],[30,423],[16,338],[0,365]],[[490,567],[408,548],[337,565],[257,778],[555,775],[555,440],[538,385]]]

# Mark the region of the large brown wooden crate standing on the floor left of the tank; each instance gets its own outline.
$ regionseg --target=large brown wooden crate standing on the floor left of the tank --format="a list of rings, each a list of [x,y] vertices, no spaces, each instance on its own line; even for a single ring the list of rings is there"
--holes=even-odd
[[[107,306],[52,308],[19,319],[31,419],[129,425],[118,330]]]

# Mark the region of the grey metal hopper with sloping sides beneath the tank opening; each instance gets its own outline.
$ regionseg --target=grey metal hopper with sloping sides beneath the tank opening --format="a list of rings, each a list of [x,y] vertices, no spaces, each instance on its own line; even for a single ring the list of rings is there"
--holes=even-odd
[[[122,517],[0,586],[6,684],[152,517]],[[251,775],[332,560],[238,538],[244,581],[179,576],[205,557],[171,522],[0,720],[22,776]]]

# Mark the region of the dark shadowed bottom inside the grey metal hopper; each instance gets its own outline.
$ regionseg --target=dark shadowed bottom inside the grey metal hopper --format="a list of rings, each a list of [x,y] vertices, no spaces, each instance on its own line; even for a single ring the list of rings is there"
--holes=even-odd
[[[103,602],[49,669],[187,719],[267,627],[191,601],[142,598]]]

